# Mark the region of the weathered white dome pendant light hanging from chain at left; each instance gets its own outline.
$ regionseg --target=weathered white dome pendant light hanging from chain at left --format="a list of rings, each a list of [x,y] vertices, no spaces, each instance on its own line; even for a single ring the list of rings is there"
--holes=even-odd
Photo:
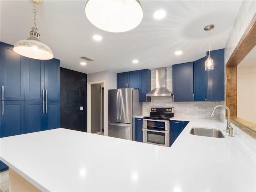
[[[13,50],[25,57],[48,60],[53,58],[52,50],[39,40],[40,34],[36,28],[36,4],[42,4],[43,0],[32,0],[34,3],[34,27],[30,31],[30,36],[26,40],[16,42]]]

